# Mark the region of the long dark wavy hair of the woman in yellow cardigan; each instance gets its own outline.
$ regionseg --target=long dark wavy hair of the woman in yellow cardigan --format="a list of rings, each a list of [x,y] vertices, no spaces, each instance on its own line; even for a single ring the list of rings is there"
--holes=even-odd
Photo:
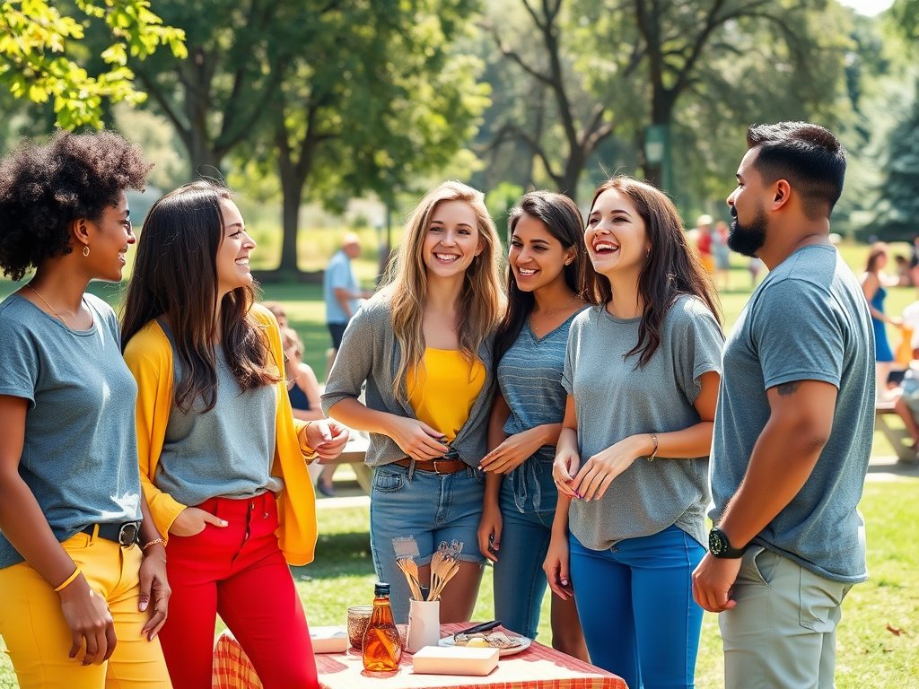
[[[204,411],[217,401],[214,342],[220,340],[233,377],[243,390],[277,383],[268,367],[267,342],[249,315],[255,287],[223,296],[217,322],[217,250],[223,240],[221,199],[226,187],[208,180],[180,186],[160,198],[144,220],[121,320],[122,347],[154,318],[168,314],[181,363],[176,406],[188,412],[201,398]],[[275,362],[278,371],[282,363]]]

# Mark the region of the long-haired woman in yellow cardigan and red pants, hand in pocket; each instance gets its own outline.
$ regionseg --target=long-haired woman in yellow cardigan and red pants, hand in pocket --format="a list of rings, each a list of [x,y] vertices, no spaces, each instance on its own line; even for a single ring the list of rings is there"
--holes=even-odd
[[[278,323],[255,304],[255,242],[229,193],[182,186],[150,210],[122,341],[137,379],[141,481],[173,589],[161,639],[176,689],[210,687],[215,616],[267,689],[318,686],[288,564],[312,560],[306,464],[344,426],[295,421]]]

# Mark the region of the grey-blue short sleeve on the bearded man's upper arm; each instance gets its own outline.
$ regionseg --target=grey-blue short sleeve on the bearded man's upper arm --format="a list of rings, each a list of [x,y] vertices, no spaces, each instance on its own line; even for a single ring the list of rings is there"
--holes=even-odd
[[[795,380],[839,388],[845,331],[825,289],[805,280],[782,280],[763,293],[753,318],[766,390]]]

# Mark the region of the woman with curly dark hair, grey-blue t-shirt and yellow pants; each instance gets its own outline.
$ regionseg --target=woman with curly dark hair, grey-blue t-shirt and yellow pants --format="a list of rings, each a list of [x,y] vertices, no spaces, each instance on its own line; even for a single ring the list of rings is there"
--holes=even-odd
[[[151,167],[111,132],[61,132],[0,163],[0,266],[14,280],[36,269],[0,303],[0,635],[22,689],[170,686],[137,385],[115,313],[85,294],[121,279],[125,190]]]

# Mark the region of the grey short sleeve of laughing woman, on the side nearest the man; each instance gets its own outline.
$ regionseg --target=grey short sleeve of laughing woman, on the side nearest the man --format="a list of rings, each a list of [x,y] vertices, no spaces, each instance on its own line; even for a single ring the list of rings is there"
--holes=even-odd
[[[676,383],[690,404],[702,391],[702,374],[721,373],[724,337],[715,315],[698,299],[681,299],[673,307],[678,322],[673,330]]]

